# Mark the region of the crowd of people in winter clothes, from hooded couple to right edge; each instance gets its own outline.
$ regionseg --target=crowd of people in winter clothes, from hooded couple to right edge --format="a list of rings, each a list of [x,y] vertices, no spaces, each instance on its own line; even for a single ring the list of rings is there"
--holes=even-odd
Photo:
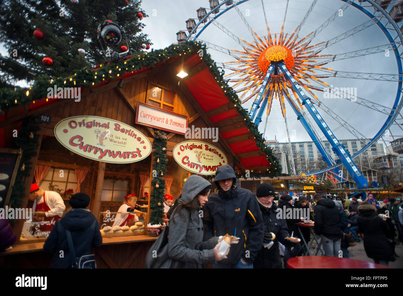
[[[216,189],[210,195],[206,194],[210,183],[196,175],[191,177],[167,215],[168,253],[183,263],[180,267],[212,263],[213,268],[288,268],[290,258],[307,252],[302,241],[290,237],[299,238],[302,234],[306,243],[311,240],[309,228],[301,227],[299,232],[296,223],[312,220],[325,256],[349,258],[348,248],[361,242],[359,234],[364,237],[367,256],[375,263],[387,266],[399,257],[395,245],[403,238],[400,199],[379,203],[371,194],[365,201],[355,197],[342,200],[337,195],[285,194],[276,204],[277,196],[270,183],[260,184],[256,193],[240,188],[229,165],[217,170]],[[310,214],[278,216],[278,209],[294,208],[307,209]],[[231,240],[229,253],[220,255],[218,250],[226,234],[237,238]]]

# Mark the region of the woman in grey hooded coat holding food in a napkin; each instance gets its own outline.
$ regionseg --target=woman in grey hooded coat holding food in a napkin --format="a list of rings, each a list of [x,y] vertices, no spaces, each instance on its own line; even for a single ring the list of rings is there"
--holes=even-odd
[[[217,252],[219,238],[203,240],[202,211],[211,184],[206,179],[191,175],[183,185],[181,201],[169,220],[168,255],[182,261],[182,268],[204,268],[205,265],[226,258]]]

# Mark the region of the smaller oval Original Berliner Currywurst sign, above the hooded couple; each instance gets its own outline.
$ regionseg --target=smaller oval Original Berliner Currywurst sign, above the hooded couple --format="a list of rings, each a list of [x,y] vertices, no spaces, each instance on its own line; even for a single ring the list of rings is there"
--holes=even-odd
[[[199,175],[215,175],[220,166],[228,164],[221,150],[200,141],[181,142],[174,147],[172,153],[180,166]]]

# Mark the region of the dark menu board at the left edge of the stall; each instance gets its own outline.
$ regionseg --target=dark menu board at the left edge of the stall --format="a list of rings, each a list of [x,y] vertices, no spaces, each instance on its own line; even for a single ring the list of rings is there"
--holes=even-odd
[[[10,200],[20,159],[21,150],[0,149],[0,208]]]

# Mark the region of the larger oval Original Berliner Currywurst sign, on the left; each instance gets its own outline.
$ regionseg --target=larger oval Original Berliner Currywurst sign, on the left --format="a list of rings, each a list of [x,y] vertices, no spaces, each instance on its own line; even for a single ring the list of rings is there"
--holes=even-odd
[[[73,116],[54,127],[56,139],[86,158],[109,163],[143,160],[151,153],[145,135],[123,122],[98,116]]]

